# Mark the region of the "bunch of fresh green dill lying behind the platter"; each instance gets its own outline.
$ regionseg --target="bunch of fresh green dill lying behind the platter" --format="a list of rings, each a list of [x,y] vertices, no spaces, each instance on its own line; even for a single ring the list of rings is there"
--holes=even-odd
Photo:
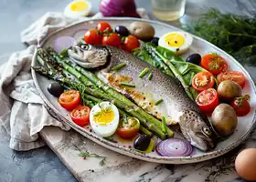
[[[181,26],[187,32],[219,46],[242,65],[256,66],[256,18],[221,14],[211,8],[198,20]]]

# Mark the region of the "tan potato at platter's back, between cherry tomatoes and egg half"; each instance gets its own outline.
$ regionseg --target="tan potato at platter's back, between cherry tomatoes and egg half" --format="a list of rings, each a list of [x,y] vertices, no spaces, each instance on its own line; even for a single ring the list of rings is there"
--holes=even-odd
[[[154,27],[145,22],[133,22],[128,29],[132,35],[143,41],[150,41],[155,35]]]

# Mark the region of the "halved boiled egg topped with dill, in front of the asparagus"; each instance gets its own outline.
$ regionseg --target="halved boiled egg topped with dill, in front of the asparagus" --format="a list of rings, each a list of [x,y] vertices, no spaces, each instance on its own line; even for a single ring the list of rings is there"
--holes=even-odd
[[[119,111],[111,102],[101,102],[91,108],[90,124],[102,137],[112,136],[119,124]]]

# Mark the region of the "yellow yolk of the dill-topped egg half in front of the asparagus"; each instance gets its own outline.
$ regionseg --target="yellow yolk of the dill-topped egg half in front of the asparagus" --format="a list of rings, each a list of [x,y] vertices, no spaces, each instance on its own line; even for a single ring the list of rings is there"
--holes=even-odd
[[[99,111],[95,116],[93,116],[95,123],[106,126],[110,124],[113,120],[114,113],[112,110],[108,110],[108,112],[105,111]]]

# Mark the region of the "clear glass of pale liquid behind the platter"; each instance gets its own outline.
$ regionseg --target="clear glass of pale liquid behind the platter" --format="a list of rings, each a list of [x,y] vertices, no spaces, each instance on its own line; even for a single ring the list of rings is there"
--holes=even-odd
[[[185,14],[186,0],[151,0],[152,12],[163,21],[175,21]]]

